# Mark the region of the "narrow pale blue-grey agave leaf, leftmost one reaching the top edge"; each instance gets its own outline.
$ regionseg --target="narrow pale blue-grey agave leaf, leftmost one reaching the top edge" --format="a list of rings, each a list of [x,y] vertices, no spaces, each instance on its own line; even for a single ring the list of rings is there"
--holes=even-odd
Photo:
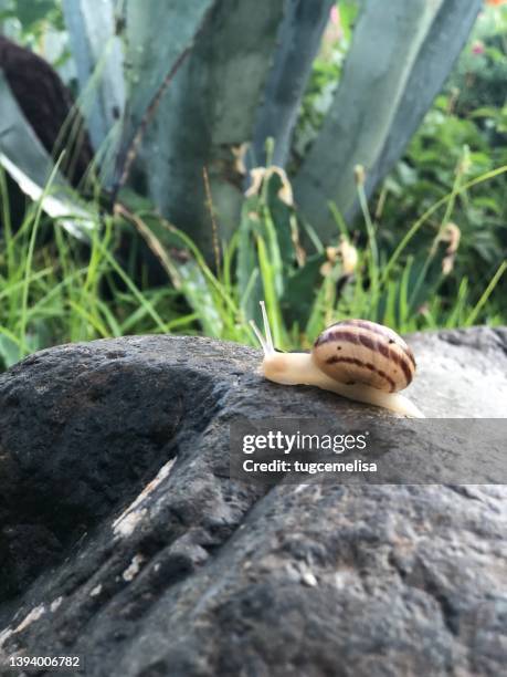
[[[82,93],[80,107],[95,149],[102,148],[125,106],[123,50],[114,10],[113,0],[63,0]]]

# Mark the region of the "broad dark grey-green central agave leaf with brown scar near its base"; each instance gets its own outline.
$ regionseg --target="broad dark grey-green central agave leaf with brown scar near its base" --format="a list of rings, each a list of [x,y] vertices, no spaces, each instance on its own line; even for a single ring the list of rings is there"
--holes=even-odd
[[[212,252],[212,227],[203,167],[221,237],[229,238],[240,219],[243,150],[253,136],[284,6],[284,0],[214,4],[144,148],[154,201],[207,253]]]

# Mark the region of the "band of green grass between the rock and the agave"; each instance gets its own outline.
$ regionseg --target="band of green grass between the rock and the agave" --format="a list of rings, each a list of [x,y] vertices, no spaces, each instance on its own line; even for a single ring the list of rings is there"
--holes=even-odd
[[[433,230],[423,256],[411,251],[414,236],[430,217],[443,210],[442,219],[451,219],[461,192],[506,170],[501,167],[467,184],[456,181],[391,253],[378,249],[379,225],[359,185],[365,232],[356,243],[352,275],[345,275],[344,262],[329,258],[311,229],[278,199],[276,175],[245,201],[237,232],[222,246],[220,265],[212,270],[183,232],[149,211],[120,208],[104,217],[85,247],[44,216],[41,200],[14,233],[0,174],[0,365],[8,367],[54,344],[139,333],[200,333],[256,345],[249,321],[258,323],[261,299],[266,301],[275,344],[283,350],[307,347],[324,326],[352,316],[399,332],[506,323],[505,304],[495,291],[507,262],[492,271],[477,293],[466,278],[456,288],[450,285]],[[353,246],[336,209],[335,215],[337,242],[341,237]],[[158,257],[167,284],[150,289],[118,262],[118,238],[127,226]],[[298,239],[313,253],[303,257]],[[187,256],[175,256],[175,246]]]

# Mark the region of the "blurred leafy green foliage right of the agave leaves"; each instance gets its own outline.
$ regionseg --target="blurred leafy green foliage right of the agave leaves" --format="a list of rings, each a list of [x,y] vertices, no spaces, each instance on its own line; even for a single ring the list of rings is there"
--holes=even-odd
[[[485,9],[445,91],[377,195],[388,248],[406,223],[456,181],[507,165],[506,83],[507,8]],[[490,271],[507,258],[506,194],[504,174],[456,198],[452,220],[461,240],[443,290],[448,296],[464,277],[478,292]],[[442,220],[432,219],[427,228],[439,232]],[[414,247],[423,244],[415,240]],[[498,292],[501,296],[500,290],[507,294],[505,280]],[[504,303],[504,310],[506,306]]]

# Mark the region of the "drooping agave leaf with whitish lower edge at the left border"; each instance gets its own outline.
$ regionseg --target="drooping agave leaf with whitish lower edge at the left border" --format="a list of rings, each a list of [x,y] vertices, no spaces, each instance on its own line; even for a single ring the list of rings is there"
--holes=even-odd
[[[76,204],[66,180],[27,122],[0,70],[0,165],[44,211],[61,220],[72,235],[86,237],[95,217]],[[52,177],[51,192],[44,190]],[[77,219],[77,220],[76,220]]]

